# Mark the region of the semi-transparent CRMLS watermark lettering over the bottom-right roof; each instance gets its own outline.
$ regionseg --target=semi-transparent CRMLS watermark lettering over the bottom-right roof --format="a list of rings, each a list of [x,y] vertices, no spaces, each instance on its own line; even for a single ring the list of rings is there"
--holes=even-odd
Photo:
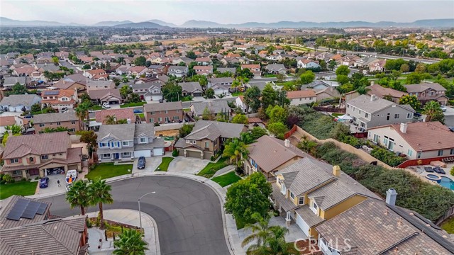
[[[294,247],[297,249],[297,251],[320,251],[321,249],[327,250],[327,249],[335,249],[337,251],[350,251],[352,249],[352,246],[350,245],[350,239],[345,238],[345,239],[330,239],[326,241],[325,239],[320,240],[320,244],[318,243],[319,240],[317,239],[312,239],[309,237],[309,239],[297,239],[297,241],[294,242]],[[298,242],[302,242],[304,246],[298,246]]]

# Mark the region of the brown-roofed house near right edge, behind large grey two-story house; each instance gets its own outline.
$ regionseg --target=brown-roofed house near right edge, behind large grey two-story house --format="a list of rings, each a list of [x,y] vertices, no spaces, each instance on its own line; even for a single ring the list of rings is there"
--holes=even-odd
[[[438,101],[442,106],[448,103],[449,98],[445,96],[446,89],[438,83],[421,83],[404,85],[410,96],[416,96],[421,103]]]

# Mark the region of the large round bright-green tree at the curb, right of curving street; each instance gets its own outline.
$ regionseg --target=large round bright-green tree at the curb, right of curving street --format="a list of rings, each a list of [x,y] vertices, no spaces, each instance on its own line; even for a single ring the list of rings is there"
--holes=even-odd
[[[272,192],[265,175],[254,173],[248,178],[233,183],[226,194],[226,212],[237,220],[251,222],[253,213],[265,216],[270,208],[268,200]]]

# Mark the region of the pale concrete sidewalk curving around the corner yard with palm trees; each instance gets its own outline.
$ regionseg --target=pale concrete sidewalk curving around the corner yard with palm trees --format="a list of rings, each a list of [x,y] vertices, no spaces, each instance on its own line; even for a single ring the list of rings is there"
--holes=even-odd
[[[98,212],[90,212],[87,214],[88,217],[96,217]],[[150,215],[142,212],[142,227],[145,232],[145,242],[148,243],[148,250],[145,251],[147,255],[160,255],[159,238],[157,234],[156,222]],[[139,212],[137,210],[126,210],[126,209],[114,209],[104,210],[104,219],[120,222],[127,225],[139,226]],[[89,229],[89,253],[90,254],[111,254],[114,251],[113,239],[104,239],[104,232],[91,228]],[[102,242],[99,242],[102,239]],[[116,237],[118,239],[118,237]],[[98,249],[98,245],[101,245],[101,249]]]

